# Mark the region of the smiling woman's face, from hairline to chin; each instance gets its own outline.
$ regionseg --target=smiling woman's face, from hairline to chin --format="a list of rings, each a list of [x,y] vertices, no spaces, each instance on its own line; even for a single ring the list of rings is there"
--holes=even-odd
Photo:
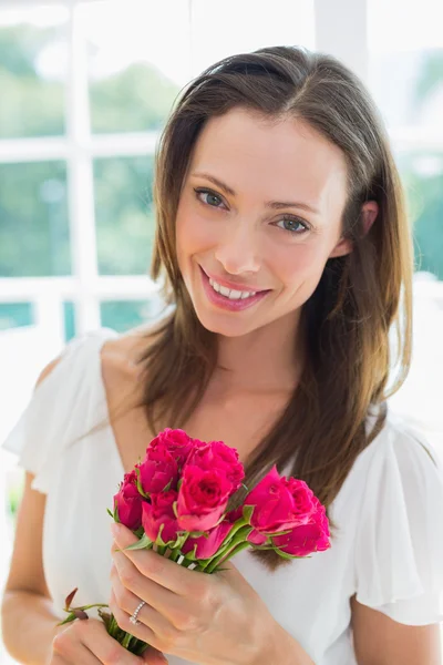
[[[178,266],[202,325],[235,337],[295,318],[328,258],[352,249],[340,239],[346,197],[342,152],[307,123],[271,124],[244,109],[210,119],[176,218]]]

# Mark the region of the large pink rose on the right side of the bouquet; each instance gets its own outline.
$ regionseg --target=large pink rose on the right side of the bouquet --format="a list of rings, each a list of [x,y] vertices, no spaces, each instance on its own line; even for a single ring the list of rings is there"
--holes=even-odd
[[[274,466],[245,499],[254,505],[250,524],[260,533],[276,533],[309,522],[316,510],[315,494],[302,480],[280,477]]]

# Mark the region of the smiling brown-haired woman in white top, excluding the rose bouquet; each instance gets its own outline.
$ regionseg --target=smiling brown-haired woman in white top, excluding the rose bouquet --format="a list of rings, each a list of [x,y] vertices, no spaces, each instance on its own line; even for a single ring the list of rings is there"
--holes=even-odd
[[[155,327],[70,342],[6,444],[27,469],[9,651],[21,663],[135,665],[100,621],[54,630],[78,586],[78,605],[109,601],[157,649],[150,663],[164,652],[171,665],[440,664],[443,482],[387,408],[393,324],[393,390],[410,364],[413,265],[367,91],[298,48],[227,58],[177,101],[154,194],[152,274],[172,310]],[[107,427],[91,429],[100,416]],[[113,540],[105,509],[166,426],[237,448],[248,487],[272,463],[306,480],[328,507],[331,549],[290,562],[241,552],[213,576],[116,552],[133,535]]]

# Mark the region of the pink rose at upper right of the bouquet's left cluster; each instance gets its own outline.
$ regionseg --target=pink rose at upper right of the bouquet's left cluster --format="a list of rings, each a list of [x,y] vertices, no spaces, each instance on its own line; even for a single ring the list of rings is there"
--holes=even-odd
[[[196,440],[198,441],[198,440]],[[226,446],[223,441],[210,441],[203,443],[198,441],[197,447],[189,454],[188,464],[196,464],[200,469],[219,469],[233,485],[236,492],[245,478],[245,470],[235,448]]]

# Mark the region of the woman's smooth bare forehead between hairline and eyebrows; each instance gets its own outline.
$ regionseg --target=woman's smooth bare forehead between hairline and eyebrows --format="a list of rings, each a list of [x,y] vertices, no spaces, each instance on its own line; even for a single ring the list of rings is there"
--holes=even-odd
[[[343,153],[298,119],[264,123],[244,110],[210,119],[188,168],[194,180],[203,174],[224,183],[230,196],[301,202],[319,214],[332,198],[346,200]]]

